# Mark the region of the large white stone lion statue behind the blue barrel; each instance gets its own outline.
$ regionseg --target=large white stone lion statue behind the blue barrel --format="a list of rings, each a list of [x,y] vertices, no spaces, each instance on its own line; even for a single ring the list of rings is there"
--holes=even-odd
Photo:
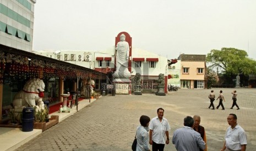
[[[45,83],[43,80],[32,78],[26,82],[23,90],[20,90],[13,100],[14,108],[35,107],[44,109],[42,102],[43,91],[45,91]]]

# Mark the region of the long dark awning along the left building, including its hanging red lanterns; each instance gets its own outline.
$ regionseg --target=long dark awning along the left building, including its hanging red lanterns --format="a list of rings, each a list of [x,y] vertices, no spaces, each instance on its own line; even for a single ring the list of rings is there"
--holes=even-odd
[[[10,68],[6,66],[8,71],[14,71],[14,76],[20,74],[18,71],[24,70],[24,72],[30,73],[42,73],[42,76],[50,77],[70,77],[70,78],[87,78],[91,77],[92,79],[96,78],[105,78],[106,74],[102,72],[97,72],[94,69],[85,68],[83,66],[75,65],[73,63],[60,61],[57,59],[52,59],[47,56],[41,56],[34,54],[29,51],[24,51],[6,45],[0,44],[0,60],[10,60],[12,62],[6,62],[6,64],[12,65],[19,68]],[[30,63],[27,63],[26,60],[30,59]],[[26,68],[25,68],[26,67]],[[29,67],[32,67],[33,70],[26,71]],[[1,82],[1,80],[0,80]]]

